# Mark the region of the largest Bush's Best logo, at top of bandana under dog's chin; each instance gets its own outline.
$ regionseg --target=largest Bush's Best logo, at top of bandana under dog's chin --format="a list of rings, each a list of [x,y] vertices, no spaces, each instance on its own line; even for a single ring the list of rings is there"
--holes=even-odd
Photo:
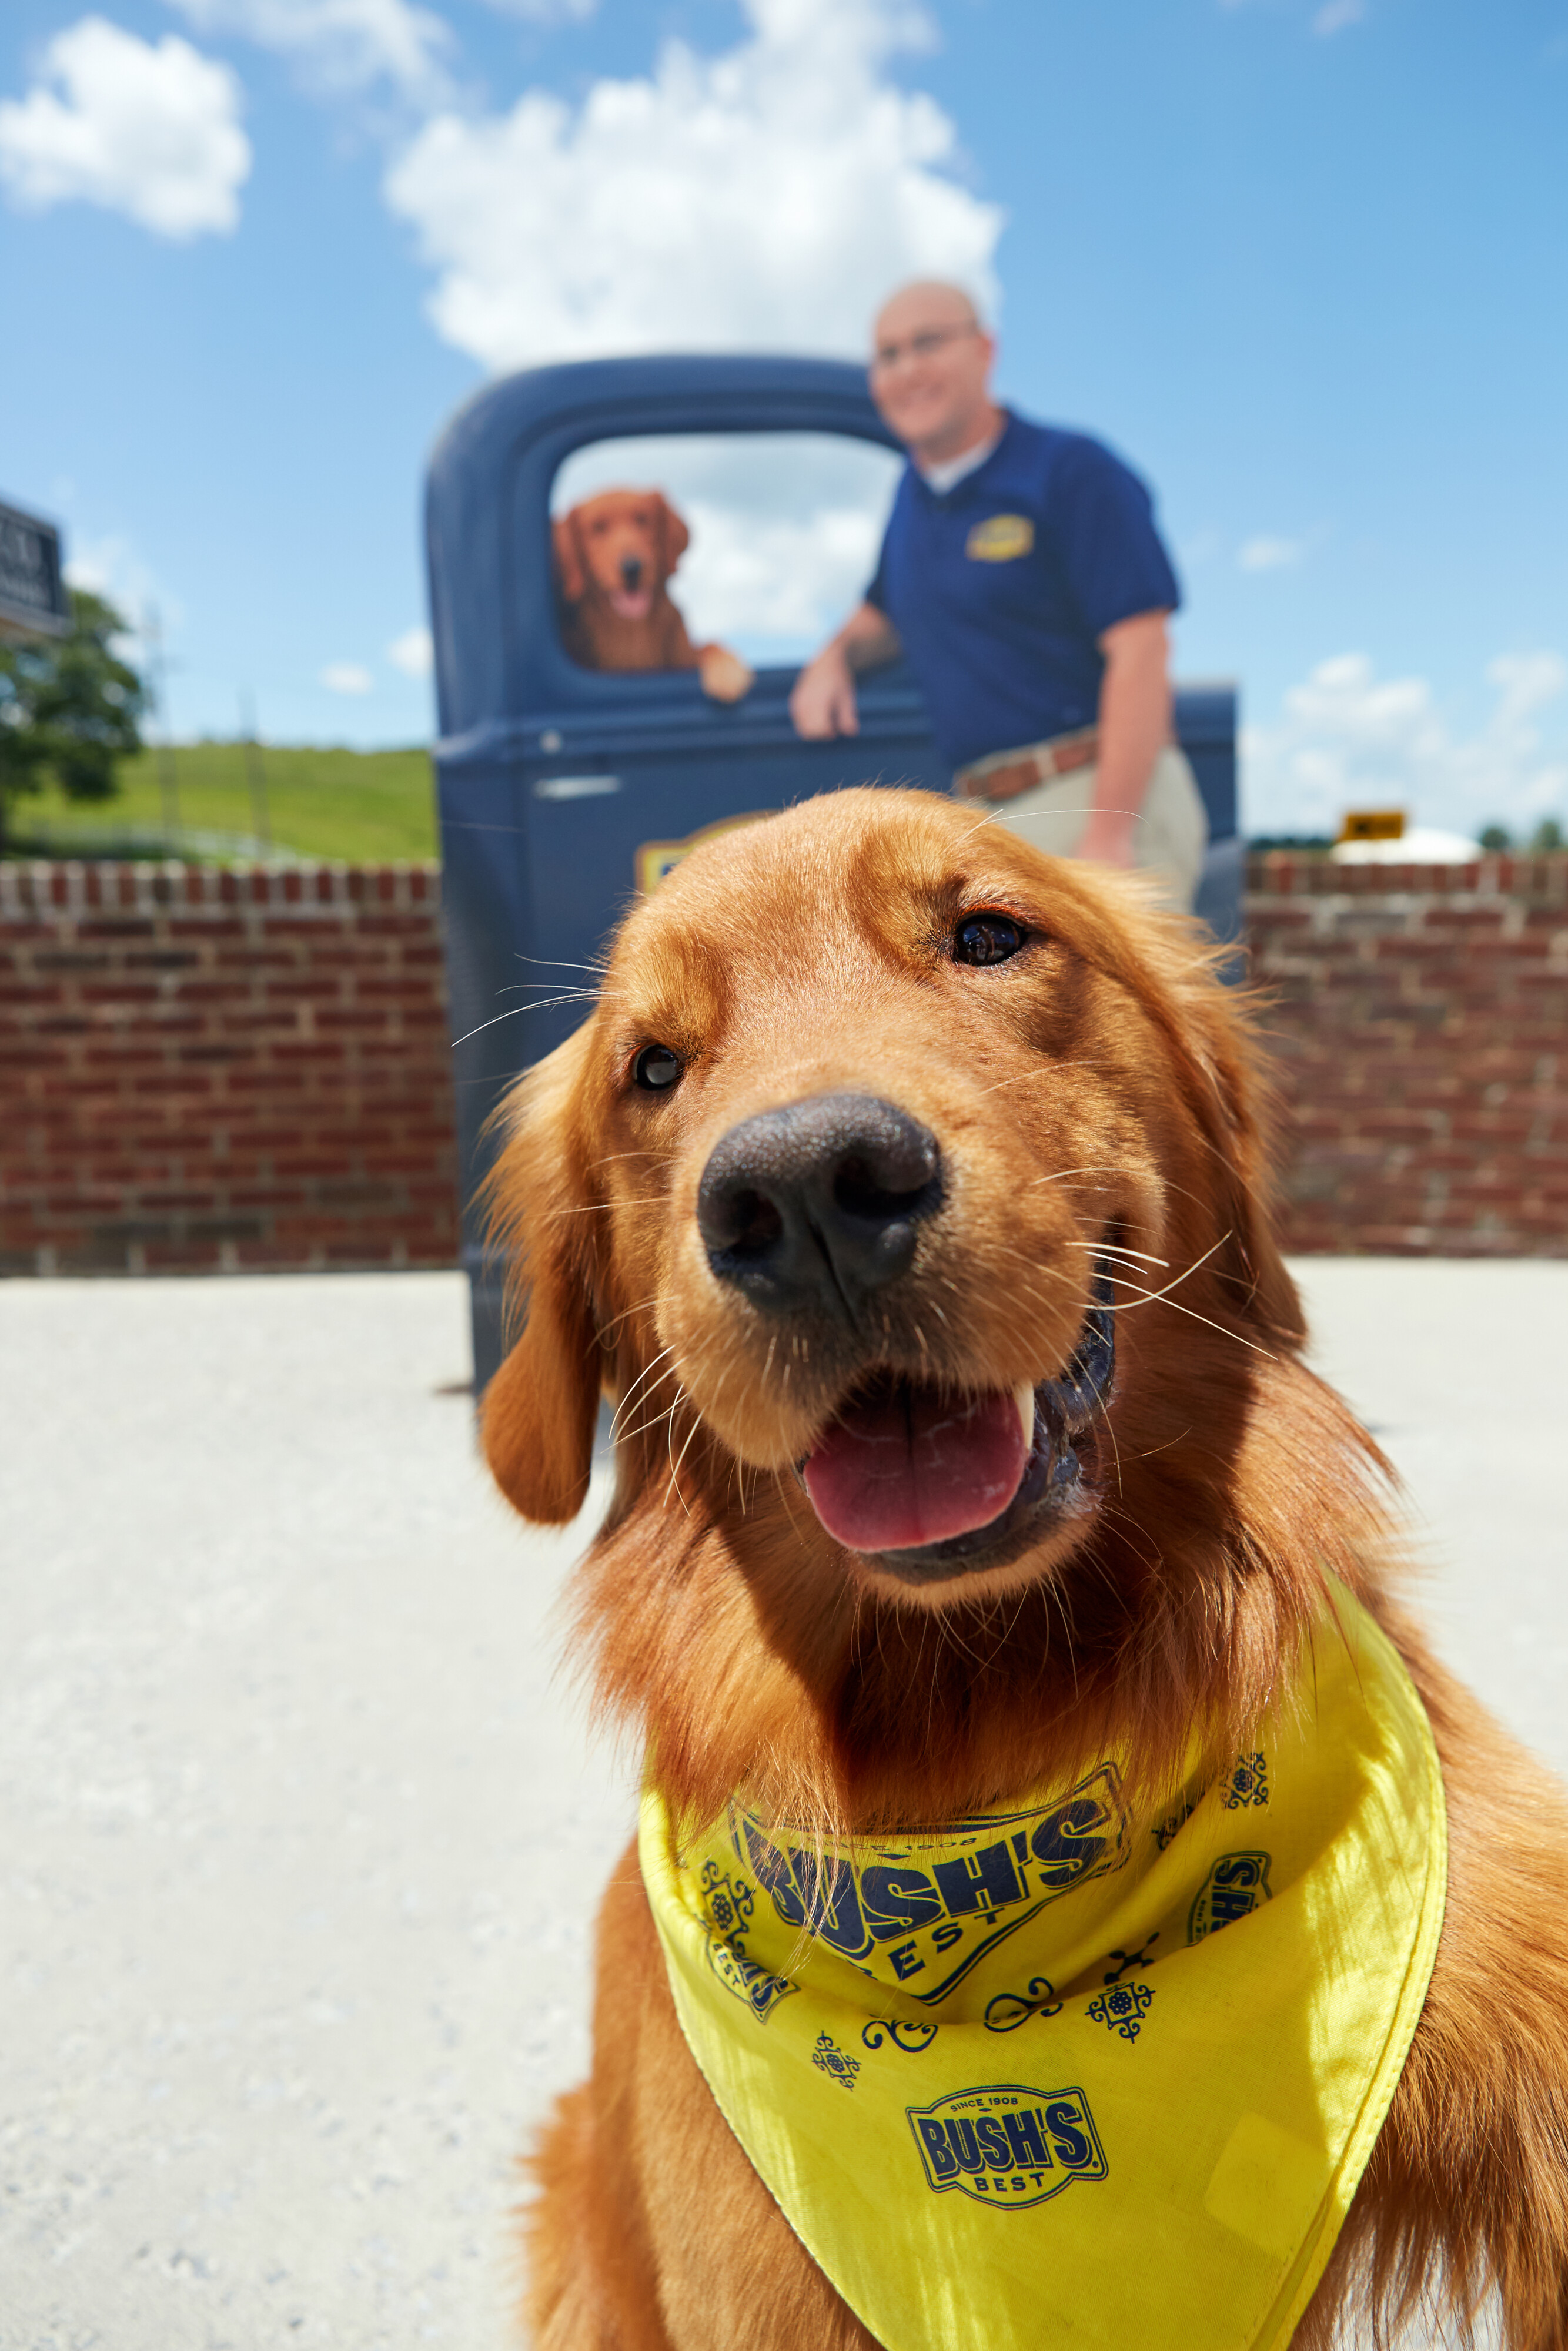
[[[823,1857],[783,1829],[769,1834],[741,1806],[731,1806],[731,1841],[785,1925],[806,1928],[875,1982],[931,2005],[1048,1902],[1121,1869],[1128,1822],[1117,1766],[1100,1763],[1063,1803],[853,1857]]]

